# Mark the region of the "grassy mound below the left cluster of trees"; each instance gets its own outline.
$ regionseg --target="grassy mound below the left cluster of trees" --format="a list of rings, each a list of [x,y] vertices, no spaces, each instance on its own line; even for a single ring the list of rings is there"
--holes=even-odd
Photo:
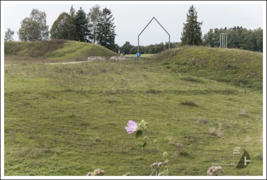
[[[50,40],[34,42],[5,42],[5,55],[51,60],[86,60],[88,56],[116,56],[117,54],[98,44]]]

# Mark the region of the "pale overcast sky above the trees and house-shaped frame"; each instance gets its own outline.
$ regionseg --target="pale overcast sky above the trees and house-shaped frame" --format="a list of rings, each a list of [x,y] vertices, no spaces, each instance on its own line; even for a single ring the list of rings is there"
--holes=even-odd
[[[16,32],[21,26],[21,21],[29,17],[31,9],[45,11],[49,30],[56,18],[62,12],[69,12],[69,5],[4,5],[5,31],[7,28],[15,31],[14,40],[18,40]],[[73,5],[78,10],[82,7],[86,13],[94,5]],[[116,25],[116,43],[120,46],[125,41],[137,45],[137,36],[150,21],[156,17],[160,24],[170,34],[170,41],[180,41],[183,22],[186,19],[188,5],[102,5],[112,11]],[[230,28],[242,26],[255,29],[263,26],[263,5],[194,5],[198,11],[198,21],[203,21],[202,34],[211,28]],[[153,20],[140,36],[140,45],[166,42],[168,35]]]

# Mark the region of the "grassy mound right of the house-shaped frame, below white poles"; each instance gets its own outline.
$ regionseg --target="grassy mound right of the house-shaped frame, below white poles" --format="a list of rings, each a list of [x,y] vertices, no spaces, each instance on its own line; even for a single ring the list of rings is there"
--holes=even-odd
[[[262,90],[262,53],[185,47],[163,51],[151,58],[174,72]]]

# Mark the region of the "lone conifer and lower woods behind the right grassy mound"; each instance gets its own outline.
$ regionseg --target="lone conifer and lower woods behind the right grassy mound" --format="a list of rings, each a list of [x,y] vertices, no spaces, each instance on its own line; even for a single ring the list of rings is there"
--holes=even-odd
[[[181,36],[181,45],[196,45],[220,47],[220,33],[227,33],[227,48],[236,48],[250,51],[263,50],[263,30],[261,28],[248,30],[237,26],[234,28],[210,29],[202,36],[202,22],[197,21],[197,11],[192,5],[188,10]]]

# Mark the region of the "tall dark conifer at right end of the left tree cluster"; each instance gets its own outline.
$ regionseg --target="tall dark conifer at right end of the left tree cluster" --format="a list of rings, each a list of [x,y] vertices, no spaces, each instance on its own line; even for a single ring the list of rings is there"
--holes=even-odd
[[[103,9],[102,14],[99,17],[98,23],[98,34],[97,39],[100,45],[105,48],[115,51],[115,25],[114,18],[112,17],[111,11],[107,8]]]

